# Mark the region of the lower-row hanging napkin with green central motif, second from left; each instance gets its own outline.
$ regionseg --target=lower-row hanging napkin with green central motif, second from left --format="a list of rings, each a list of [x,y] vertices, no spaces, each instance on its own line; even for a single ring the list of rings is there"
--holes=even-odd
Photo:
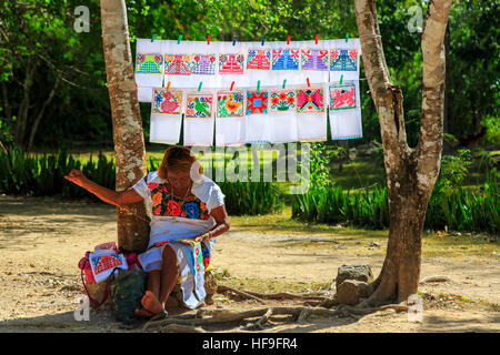
[[[213,144],[214,110],[213,92],[193,91],[186,94],[184,145],[211,146]]]

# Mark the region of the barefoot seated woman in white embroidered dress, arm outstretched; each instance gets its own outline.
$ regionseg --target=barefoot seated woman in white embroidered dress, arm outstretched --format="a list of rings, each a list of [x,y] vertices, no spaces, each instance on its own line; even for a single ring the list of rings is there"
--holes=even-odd
[[[202,304],[203,271],[214,237],[230,224],[222,191],[202,175],[190,149],[169,148],[157,171],[123,192],[100,186],[76,170],[64,178],[107,203],[126,205],[146,200],[151,209],[148,250],[139,255],[148,272],[147,292],[141,300],[143,308],[136,313],[147,317],[166,313],[164,304],[179,276],[184,304],[192,310]]]

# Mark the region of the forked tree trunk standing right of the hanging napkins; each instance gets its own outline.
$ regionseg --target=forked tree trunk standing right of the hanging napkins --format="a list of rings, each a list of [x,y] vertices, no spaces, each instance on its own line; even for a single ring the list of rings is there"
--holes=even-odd
[[[422,33],[422,120],[412,149],[407,143],[402,91],[392,84],[386,63],[374,0],[354,0],[364,72],[380,121],[390,215],[382,271],[360,306],[400,303],[418,290],[421,232],[442,152],[443,38],[450,7],[451,0],[429,3]]]

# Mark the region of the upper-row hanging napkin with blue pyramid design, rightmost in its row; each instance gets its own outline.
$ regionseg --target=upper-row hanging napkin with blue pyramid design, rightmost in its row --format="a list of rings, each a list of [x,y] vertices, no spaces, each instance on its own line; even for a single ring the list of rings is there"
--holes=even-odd
[[[330,82],[359,80],[359,58],[361,45],[359,39],[332,40],[330,47]]]

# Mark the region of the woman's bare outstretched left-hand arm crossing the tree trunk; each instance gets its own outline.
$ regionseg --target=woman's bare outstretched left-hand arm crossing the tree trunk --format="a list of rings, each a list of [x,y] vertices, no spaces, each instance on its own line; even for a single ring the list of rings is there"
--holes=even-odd
[[[87,179],[87,176],[78,170],[72,170],[64,176],[64,179],[93,193],[96,196],[109,204],[126,205],[142,201],[142,196],[139,195],[132,187],[129,187],[126,191],[110,190]]]

